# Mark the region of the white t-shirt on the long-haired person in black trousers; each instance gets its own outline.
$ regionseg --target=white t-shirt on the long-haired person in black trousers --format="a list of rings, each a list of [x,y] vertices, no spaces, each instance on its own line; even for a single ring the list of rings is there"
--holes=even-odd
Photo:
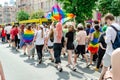
[[[36,32],[36,41],[35,41],[35,45],[44,45],[44,36],[42,38],[42,31],[38,30]],[[44,35],[44,34],[43,34]]]

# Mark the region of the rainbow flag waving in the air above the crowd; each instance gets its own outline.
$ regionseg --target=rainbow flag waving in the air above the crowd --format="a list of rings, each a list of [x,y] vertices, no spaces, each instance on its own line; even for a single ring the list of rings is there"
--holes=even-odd
[[[72,13],[65,13],[60,9],[58,4],[54,5],[52,7],[51,12],[49,12],[46,16],[47,19],[52,19],[56,21],[60,21],[61,23],[64,23],[70,19],[72,19],[75,15]]]

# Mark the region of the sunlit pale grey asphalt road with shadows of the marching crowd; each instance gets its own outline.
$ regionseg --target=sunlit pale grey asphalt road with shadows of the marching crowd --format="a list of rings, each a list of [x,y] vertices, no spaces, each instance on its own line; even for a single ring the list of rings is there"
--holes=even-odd
[[[100,72],[85,67],[84,61],[78,61],[77,71],[67,68],[67,58],[62,58],[63,72],[58,72],[45,53],[42,64],[35,59],[28,60],[22,51],[16,52],[0,44],[0,60],[3,65],[6,80],[97,80]]]

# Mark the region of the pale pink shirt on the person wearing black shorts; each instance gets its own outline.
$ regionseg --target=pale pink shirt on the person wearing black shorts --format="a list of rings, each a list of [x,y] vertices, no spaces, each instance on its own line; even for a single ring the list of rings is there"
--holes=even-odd
[[[84,31],[84,30],[79,31],[76,34],[76,40],[78,41],[78,45],[85,45],[85,43],[86,43],[86,37],[87,37],[86,31]]]

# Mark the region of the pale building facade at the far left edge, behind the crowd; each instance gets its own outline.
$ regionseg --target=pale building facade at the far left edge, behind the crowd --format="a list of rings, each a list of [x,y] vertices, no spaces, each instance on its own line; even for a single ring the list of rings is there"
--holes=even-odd
[[[16,7],[9,6],[8,3],[0,7],[0,24],[16,21]]]

